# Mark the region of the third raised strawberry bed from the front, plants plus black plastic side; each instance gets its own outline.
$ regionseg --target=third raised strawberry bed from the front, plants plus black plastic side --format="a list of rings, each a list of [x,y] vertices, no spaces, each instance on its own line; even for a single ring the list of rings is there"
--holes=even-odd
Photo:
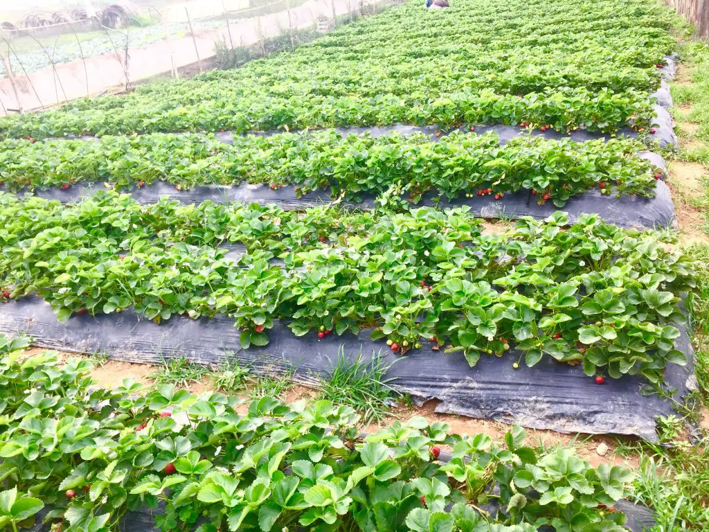
[[[0,177],[7,189],[38,187],[38,196],[61,201],[108,186],[133,189],[135,199],[148,203],[167,195],[185,203],[256,201],[289,209],[333,201],[364,209],[468,205],[486,218],[546,217],[563,206],[573,219],[598,213],[621,226],[674,223],[660,182],[664,160],[640,151],[636,141],[454,131],[433,133],[432,143],[410,129],[353,133],[250,135],[230,144],[162,133],[90,143],[8,140]],[[50,185],[58,189],[45,189]]]

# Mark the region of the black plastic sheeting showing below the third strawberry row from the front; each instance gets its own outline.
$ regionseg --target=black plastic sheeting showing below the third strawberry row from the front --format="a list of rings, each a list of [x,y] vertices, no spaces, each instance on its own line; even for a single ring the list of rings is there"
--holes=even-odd
[[[101,188],[101,185],[96,183],[79,182],[68,190],[56,188],[38,190],[35,195],[59,201],[76,201],[93,196],[96,189]],[[295,187],[291,185],[285,185],[277,190],[272,190],[265,184],[201,185],[189,190],[177,190],[171,184],[158,182],[142,189],[135,189],[130,192],[130,195],[142,204],[156,203],[164,196],[177,199],[182,204],[199,204],[206,200],[216,203],[240,201],[245,204],[277,204],[286,210],[333,204],[333,198],[324,190],[298,197]],[[569,213],[570,223],[574,223],[581,214],[588,213],[598,214],[606,222],[621,227],[671,228],[676,226],[674,204],[669,188],[661,180],[657,181],[655,195],[649,198],[630,194],[623,194],[618,198],[612,194],[601,194],[600,190],[589,190],[571,197],[562,208],[554,206],[551,201],[539,205],[536,198],[537,196],[529,191],[518,191],[508,192],[500,199],[475,195],[471,198],[461,196],[448,200],[445,196],[428,192],[416,205],[440,208],[469,206],[471,214],[481,218],[518,219],[532,216],[544,219],[555,211],[562,210]],[[372,194],[363,194],[361,200],[357,203],[341,201],[338,204],[346,209],[374,209],[376,206],[376,198]]]

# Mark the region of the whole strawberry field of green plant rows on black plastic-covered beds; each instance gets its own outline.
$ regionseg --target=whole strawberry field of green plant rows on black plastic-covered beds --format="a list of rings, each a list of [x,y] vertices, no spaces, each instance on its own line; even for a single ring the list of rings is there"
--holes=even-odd
[[[628,530],[628,470],[520,426],[652,441],[693,394],[698,267],[652,153],[676,18],[450,1],[0,118],[0,529]],[[322,387],[354,360],[380,414],[509,426],[370,430],[372,394],[281,401],[275,377],[252,400],[108,389],[23,336],[232,384]]]

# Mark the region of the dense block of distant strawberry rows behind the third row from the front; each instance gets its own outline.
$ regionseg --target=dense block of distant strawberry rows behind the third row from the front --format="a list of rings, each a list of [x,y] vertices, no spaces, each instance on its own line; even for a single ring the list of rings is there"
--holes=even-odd
[[[411,2],[225,75],[4,118],[0,131],[46,137],[396,121],[615,131],[630,119],[647,126],[654,66],[673,47],[669,11],[648,0],[508,4],[460,0],[426,16]]]

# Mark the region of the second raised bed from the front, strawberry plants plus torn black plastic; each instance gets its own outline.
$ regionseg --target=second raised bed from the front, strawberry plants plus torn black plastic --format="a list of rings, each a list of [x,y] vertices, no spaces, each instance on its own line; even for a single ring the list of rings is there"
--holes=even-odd
[[[0,305],[0,330],[40,345],[143,361],[238,352],[301,375],[342,345],[389,349],[406,355],[396,386],[443,411],[645,438],[671,404],[642,387],[686,392],[690,258],[597,216],[486,235],[466,209],[2,200],[1,295],[19,301]]]

